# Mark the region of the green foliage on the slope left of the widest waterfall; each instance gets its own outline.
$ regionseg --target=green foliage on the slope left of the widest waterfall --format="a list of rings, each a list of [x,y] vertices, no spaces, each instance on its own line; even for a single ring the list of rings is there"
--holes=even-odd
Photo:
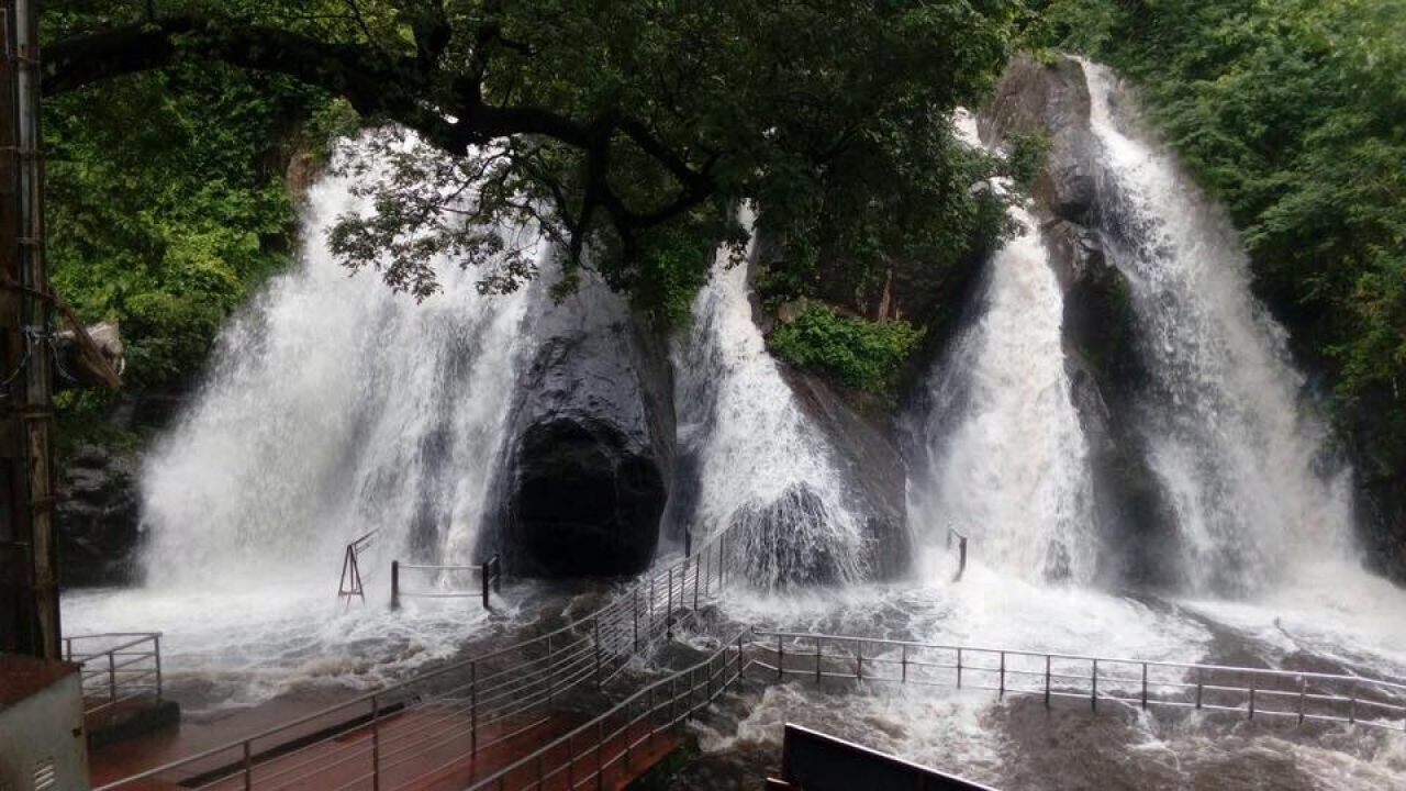
[[[45,101],[53,283],[86,321],[121,324],[129,386],[198,370],[229,311],[287,265],[285,141],[314,110],[312,137],[344,128],[287,77],[209,65]]]

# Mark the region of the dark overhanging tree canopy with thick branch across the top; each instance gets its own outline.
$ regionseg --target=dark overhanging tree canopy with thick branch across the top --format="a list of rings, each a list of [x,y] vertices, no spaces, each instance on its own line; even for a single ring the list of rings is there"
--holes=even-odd
[[[485,227],[530,221],[659,319],[741,239],[737,201],[801,255],[856,266],[970,214],[950,110],[1015,42],[1015,0],[143,0],[49,3],[48,96],[181,63],[276,73],[412,129],[374,220],[335,249],[416,296],[430,258],[512,290],[533,262]],[[957,173],[962,177],[955,177]],[[465,222],[471,220],[471,222]],[[494,266],[488,266],[489,263]]]

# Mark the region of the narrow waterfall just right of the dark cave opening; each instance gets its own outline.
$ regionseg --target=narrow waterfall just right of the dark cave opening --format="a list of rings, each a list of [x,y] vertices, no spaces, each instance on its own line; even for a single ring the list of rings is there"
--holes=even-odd
[[[744,210],[744,224],[752,217]],[[751,245],[748,248],[751,256]],[[697,476],[702,538],[737,524],[754,583],[851,581],[863,573],[860,521],[846,508],[834,450],[808,422],[752,321],[748,266],[720,249],[675,345],[681,470]],[[688,473],[686,473],[688,474]]]

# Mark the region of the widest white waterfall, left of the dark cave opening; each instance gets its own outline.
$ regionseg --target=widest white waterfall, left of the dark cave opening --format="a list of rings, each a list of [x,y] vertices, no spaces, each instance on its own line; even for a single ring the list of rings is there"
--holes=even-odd
[[[349,276],[326,231],[367,211],[347,177],[311,189],[299,266],[229,324],[149,457],[152,583],[335,574],[340,548],[375,528],[384,557],[470,562],[537,289],[482,297],[475,272],[441,260],[443,291],[416,304]]]

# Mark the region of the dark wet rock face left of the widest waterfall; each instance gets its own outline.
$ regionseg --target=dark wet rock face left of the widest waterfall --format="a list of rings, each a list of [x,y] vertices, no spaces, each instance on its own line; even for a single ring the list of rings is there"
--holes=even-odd
[[[136,577],[141,501],[136,460],[83,446],[63,470],[55,507],[65,587],[127,584]]]

